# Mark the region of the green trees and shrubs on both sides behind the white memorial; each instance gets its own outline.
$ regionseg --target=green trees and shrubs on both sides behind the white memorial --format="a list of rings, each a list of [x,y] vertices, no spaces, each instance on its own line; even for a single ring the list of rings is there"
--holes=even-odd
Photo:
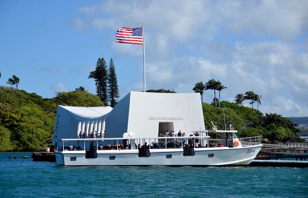
[[[104,106],[97,95],[83,90],[58,92],[53,98],[42,98],[36,93],[0,86],[0,150],[36,151],[51,147],[57,105]],[[173,91],[151,90],[174,93]],[[302,141],[296,134],[292,121],[277,114],[265,114],[256,109],[241,107],[221,101],[221,108],[202,103],[205,128],[212,129],[211,121],[218,129],[239,131],[240,137],[263,135],[266,141]],[[226,126],[226,127],[225,127]]]

